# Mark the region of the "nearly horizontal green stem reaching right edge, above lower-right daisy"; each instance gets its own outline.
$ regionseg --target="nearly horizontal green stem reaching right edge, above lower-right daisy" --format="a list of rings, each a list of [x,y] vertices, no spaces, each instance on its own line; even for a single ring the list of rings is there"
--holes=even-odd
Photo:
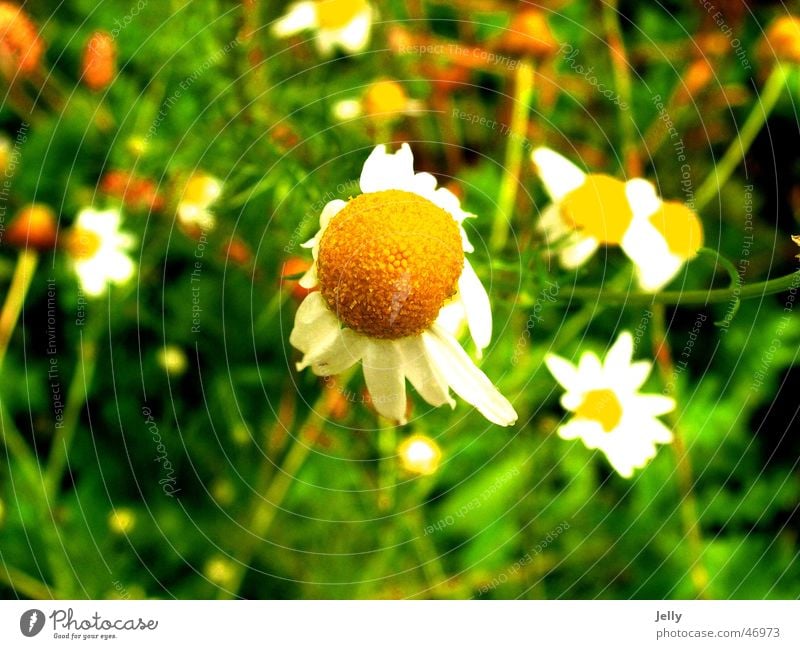
[[[704,306],[714,302],[727,302],[730,300],[747,300],[760,298],[765,295],[783,293],[800,285],[800,270],[783,275],[775,279],[741,287],[707,289],[700,291],[663,291],[661,293],[626,293],[624,291],[602,291],[594,288],[575,287],[562,291],[557,299],[561,300],[587,300],[602,302],[604,304],[624,304],[636,306],[641,304],[673,304],[683,306]]]

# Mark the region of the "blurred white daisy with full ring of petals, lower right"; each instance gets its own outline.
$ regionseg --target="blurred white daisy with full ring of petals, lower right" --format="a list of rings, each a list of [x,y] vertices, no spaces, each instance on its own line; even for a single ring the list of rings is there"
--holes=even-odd
[[[670,397],[639,392],[652,363],[632,362],[632,357],[633,337],[624,331],[603,362],[592,352],[584,352],[577,367],[554,354],[545,358],[566,390],[561,405],[573,413],[559,427],[559,437],[601,450],[624,478],[655,457],[656,444],[672,441],[672,431],[658,417],[675,409]]]

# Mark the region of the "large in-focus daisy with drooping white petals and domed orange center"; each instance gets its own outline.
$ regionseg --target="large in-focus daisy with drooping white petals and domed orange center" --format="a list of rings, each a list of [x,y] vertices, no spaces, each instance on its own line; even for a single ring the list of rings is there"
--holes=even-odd
[[[455,407],[449,389],[488,420],[510,426],[514,408],[456,340],[466,321],[483,350],[492,335],[489,297],[464,253],[473,216],[429,173],[414,173],[408,144],[378,146],[364,163],[361,195],[333,200],[304,244],[314,262],[300,280],[319,288],[300,305],[290,343],[298,370],[335,375],[362,362],[380,414],[406,421],[405,380],[433,406]]]

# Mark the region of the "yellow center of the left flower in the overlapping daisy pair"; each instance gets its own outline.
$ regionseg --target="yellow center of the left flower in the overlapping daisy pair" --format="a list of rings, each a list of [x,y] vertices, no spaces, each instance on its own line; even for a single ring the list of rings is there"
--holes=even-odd
[[[633,212],[625,183],[604,174],[589,174],[583,185],[564,197],[561,216],[573,228],[600,243],[619,245]]]

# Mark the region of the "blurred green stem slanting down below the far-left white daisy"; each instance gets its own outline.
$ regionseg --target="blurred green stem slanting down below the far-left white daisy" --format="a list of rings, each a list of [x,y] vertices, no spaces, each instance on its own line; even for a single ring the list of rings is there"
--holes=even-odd
[[[78,428],[81,410],[86,404],[89,394],[89,386],[92,384],[94,371],[97,366],[97,338],[100,333],[100,322],[104,319],[95,320],[95,325],[87,331],[86,337],[80,333],[80,360],[79,367],[75,368],[75,374],[70,381],[67,391],[67,403],[64,406],[64,418],[61,426],[56,425],[53,447],[50,450],[50,457],[47,460],[44,481],[48,499],[55,502],[58,490],[69,458],[69,450],[75,439],[75,432]]]

